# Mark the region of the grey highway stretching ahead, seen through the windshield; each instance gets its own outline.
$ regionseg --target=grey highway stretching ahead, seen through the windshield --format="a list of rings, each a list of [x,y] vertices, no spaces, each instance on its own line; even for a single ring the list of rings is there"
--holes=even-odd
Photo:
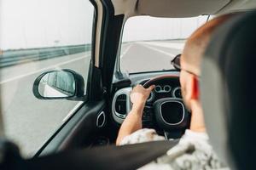
[[[183,49],[183,42],[132,42],[129,45],[122,51],[120,63],[121,69],[129,73],[173,69],[171,60]]]

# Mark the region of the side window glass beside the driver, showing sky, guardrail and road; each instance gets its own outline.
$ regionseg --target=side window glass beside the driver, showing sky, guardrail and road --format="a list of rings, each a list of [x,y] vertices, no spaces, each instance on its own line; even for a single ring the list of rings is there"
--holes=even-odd
[[[84,77],[86,88],[93,16],[88,0],[1,1],[1,112],[5,134],[20,145],[23,156],[33,156],[79,105],[65,99],[36,99],[32,85],[45,71],[71,69]],[[69,95],[74,91],[67,84],[69,78],[72,81],[65,72],[49,74],[42,89],[47,85]]]

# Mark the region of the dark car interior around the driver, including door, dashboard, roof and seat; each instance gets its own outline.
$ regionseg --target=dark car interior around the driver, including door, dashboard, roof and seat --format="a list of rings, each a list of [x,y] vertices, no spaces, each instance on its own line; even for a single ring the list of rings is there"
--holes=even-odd
[[[253,96],[256,95],[253,79],[256,13],[253,9],[256,8],[256,1],[90,0],[90,2],[95,7],[95,18],[87,95],[85,97],[83,95],[83,78],[75,71],[66,70],[68,77],[72,77],[76,82],[75,93],[69,96],[69,91],[65,90],[65,95],[58,99],[84,102],[44,143],[32,161],[24,161],[27,168],[68,169],[76,164],[76,169],[82,169],[83,166],[89,169],[103,167],[135,169],[163,154],[166,148],[170,148],[170,144],[177,144],[176,141],[167,144],[162,141],[150,143],[151,145],[114,146],[119,127],[131,111],[130,94],[137,84],[145,88],[155,85],[143,111],[143,127],[154,128],[157,133],[165,136],[166,140],[180,139],[184,131],[189,128],[190,122],[190,113],[183,104],[181,95],[179,71],[173,69],[134,74],[120,71],[120,44],[125,21],[142,15],[186,18],[241,13],[241,16],[221,26],[212,36],[201,68],[201,101],[207,133],[218,156],[232,169],[253,169],[255,157],[253,125],[256,123],[253,114],[256,110],[253,104]],[[39,82],[49,73],[45,72],[34,82],[33,94],[38,99],[56,99],[45,97],[47,94],[42,94],[39,89]],[[11,148],[5,143],[1,147]],[[148,150],[149,148],[153,149]],[[87,152],[82,152],[84,149]],[[11,154],[6,151],[6,157],[15,160],[19,157],[14,154],[17,150],[12,149]],[[77,152],[73,155],[72,150]],[[127,150],[130,152],[127,153]],[[144,152],[145,150],[148,152]],[[109,154],[102,154],[107,152]],[[12,154],[14,156],[10,156]],[[139,157],[142,156],[146,158],[140,160]],[[50,162],[55,162],[55,165]],[[8,166],[10,164],[9,161],[5,163]]]

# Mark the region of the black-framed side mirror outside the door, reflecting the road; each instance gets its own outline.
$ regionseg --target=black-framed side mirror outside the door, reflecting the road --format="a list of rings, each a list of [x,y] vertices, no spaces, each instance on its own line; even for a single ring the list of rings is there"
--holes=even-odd
[[[38,99],[84,100],[84,78],[69,69],[46,71],[35,80],[33,94]]]

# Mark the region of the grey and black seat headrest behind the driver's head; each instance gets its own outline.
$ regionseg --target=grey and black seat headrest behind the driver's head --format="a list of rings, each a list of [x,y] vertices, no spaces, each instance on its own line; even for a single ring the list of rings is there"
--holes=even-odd
[[[232,169],[256,157],[256,12],[237,15],[212,35],[201,65],[207,133]]]

